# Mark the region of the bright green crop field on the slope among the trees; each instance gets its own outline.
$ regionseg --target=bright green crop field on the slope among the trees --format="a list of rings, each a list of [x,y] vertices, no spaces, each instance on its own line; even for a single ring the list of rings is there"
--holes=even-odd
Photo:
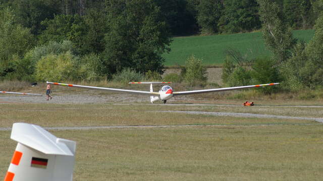
[[[297,30],[295,37],[308,42],[314,35],[314,30]],[[271,56],[265,48],[261,32],[241,33],[232,35],[177,37],[171,44],[171,52],[165,53],[165,65],[184,65],[187,57],[192,54],[202,58],[205,65],[221,65],[228,48],[239,50],[243,55],[253,58]]]

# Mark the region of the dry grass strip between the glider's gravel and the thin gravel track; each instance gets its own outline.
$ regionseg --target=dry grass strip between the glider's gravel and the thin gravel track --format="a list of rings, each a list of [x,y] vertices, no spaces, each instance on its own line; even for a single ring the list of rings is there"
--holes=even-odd
[[[315,121],[297,119],[239,118],[158,112],[168,110],[254,113],[316,118],[322,117],[323,115],[323,108],[1,104],[0,127],[11,127],[15,122],[37,124],[42,127],[195,124],[319,124]]]

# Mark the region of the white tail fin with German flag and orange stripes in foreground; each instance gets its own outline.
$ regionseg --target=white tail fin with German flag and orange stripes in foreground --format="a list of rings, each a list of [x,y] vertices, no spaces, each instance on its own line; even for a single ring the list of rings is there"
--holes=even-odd
[[[5,181],[72,181],[75,141],[50,134],[37,125],[15,123],[11,139],[18,142]]]

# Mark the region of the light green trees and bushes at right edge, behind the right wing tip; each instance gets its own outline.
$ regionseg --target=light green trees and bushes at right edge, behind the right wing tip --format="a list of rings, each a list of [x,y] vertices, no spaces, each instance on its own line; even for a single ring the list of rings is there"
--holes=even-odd
[[[284,1],[285,2],[285,1]],[[300,1],[301,2],[301,1]],[[223,80],[229,85],[259,82],[282,82],[281,89],[304,91],[320,89],[323,85],[323,13],[322,1],[317,1],[313,14],[317,15],[314,23],[314,37],[308,42],[297,40],[293,26],[288,22],[289,13],[281,2],[259,0],[259,15],[262,22],[262,37],[273,57],[258,56],[248,59],[238,50],[230,51],[224,63]],[[304,7],[309,2],[303,2]],[[308,15],[299,12],[299,17],[306,22]],[[305,17],[307,16],[307,17]],[[276,89],[277,90],[277,89]],[[268,93],[273,89],[266,89]]]

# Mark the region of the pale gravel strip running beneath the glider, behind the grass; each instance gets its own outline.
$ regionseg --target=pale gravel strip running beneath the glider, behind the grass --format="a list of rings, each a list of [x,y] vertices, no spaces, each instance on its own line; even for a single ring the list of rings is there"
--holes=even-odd
[[[150,98],[142,95],[132,94],[99,94],[95,91],[86,91],[75,94],[54,94],[53,99],[46,101],[45,96],[0,96],[0,104],[114,104],[114,105],[157,105],[157,106],[214,106],[214,107],[242,107],[242,105],[224,105],[224,104],[179,104],[183,101],[209,101],[206,99],[196,99],[191,96],[173,97],[167,101],[167,104],[155,102],[150,104]],[[323,106],[277,106],[277,105],[256,105],[255,107],[295,107],[295,108],[323,108]]]

